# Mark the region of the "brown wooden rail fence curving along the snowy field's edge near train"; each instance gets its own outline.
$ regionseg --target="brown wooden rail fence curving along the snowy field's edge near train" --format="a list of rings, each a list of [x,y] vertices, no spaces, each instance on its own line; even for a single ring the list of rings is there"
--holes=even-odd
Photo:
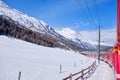
[[[85,75],[90,74],[90,72],[95,66],[96,66],[96,61],[93,62],[93,64],[89,66],[88,68],[82,69],[80,72],[70,74],[68,77],[64,78],[63,80],[72,80],[73,77],[78,76],[78,75],[80,76],[77,77],[75,80],[83,79]]]

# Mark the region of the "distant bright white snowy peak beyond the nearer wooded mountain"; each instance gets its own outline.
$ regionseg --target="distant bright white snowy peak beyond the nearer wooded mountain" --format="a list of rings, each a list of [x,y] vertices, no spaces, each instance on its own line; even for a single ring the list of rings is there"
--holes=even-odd
[[[78,43],[84,49],[96,49],[95,43],[85,36],[81,35],[79,32],[71,30],[70,28],[63,28],[61,30],[56,30],[59,34],[64,37]]]

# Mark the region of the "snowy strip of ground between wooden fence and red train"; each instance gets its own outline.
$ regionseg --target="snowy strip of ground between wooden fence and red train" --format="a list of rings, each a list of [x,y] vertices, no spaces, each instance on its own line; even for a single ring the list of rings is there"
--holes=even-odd
[[[88,80],[115,80],[114,71],[109,65],[101,62]]]

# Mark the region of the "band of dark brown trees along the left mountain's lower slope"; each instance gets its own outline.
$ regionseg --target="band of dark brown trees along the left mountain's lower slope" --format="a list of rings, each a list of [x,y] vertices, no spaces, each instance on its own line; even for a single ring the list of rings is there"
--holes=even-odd
[[[79,51],[80,48],[69,42],[55,38],[49,34],[43,34],[36,31],[27,29],[17,22],[13,21],[7,16],[0,16],[0,35],[6,35],[18,39],[22,39],[38,45],[47,47],[59,47],[64,49],[72,49]]]

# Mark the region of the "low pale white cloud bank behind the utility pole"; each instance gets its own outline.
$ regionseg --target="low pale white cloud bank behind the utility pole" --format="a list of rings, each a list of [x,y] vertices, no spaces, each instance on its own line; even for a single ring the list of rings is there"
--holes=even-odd
[[[80,31],[80,33],[93,41],[98,41],[98,31]],[[115,29],[101,30],[101,41],[109,44],[115,44],[116,30]]]

